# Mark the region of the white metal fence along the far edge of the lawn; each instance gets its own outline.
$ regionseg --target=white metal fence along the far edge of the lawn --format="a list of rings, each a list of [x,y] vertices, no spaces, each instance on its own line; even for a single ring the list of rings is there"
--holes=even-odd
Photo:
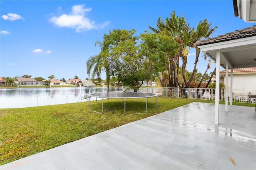
[[[128,89],[127,91],[133,91]],[[197,89],[197,88],[174,88],[174,87],[153,87],[140,88],[138,92],[155,93],[164,97],[177,97],[186,99],[203,99],[215,100],[215,89]],[[220,101],[225,101],[225,89],[220,89]],[[255,98],[248,95],[256,95],[256,90],[233,90],[232,101],[240,103],[255,103]],[[82,98],[87,96],[83,93]],[[230,90],[228,91],[228,99],[230,101]],[[0,97],[0,108],[22,108],[45,105],[58,105],[65,103],[76,103],[87,101],[80,99],[80,94],[63,94],[63,95],[37,95],[24,97]]]

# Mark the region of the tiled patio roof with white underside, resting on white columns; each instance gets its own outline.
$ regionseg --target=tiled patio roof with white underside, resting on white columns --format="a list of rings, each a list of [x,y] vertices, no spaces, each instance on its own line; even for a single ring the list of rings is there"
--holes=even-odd
[[[202,52],[216,61],[220,52],[220,65],[229,68],[255,67],[256,61],[256,26],[230,32],[196,43]]]

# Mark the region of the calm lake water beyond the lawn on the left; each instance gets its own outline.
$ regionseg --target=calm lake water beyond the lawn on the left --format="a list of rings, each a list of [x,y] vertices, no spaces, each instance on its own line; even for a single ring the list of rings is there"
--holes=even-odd
[[[109,91],[122,91],[123,88],[110,87]],[[0,108],[22,108],[45,105],[76,103],[80,96],[88,93],[106,92],[106,87],[50,87],[0,89]]]

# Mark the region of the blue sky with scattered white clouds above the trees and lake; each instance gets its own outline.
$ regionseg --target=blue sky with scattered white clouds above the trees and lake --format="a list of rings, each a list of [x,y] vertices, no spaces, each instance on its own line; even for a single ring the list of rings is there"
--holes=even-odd
[[[57,79],[88,77],[86,60],[100,52],[95,46],[103,34],[113,29],[135,29],[136,34],[156,28],[159,17],[175,10],[196,27],[208,19],[218,26],[211,37],[233,32],[255,23],[245,23],[233,14],[228,1],[0,1],[0,76],[32,75]],[[194,67],[191,49],[187,69]],[[198,71],[204,73],[208,61],[200,56]],[[215,64],[212,63],[210,73]],[[222,68],[221,68],[222,69]],[[106,75],[102,74],[102,79]]]

